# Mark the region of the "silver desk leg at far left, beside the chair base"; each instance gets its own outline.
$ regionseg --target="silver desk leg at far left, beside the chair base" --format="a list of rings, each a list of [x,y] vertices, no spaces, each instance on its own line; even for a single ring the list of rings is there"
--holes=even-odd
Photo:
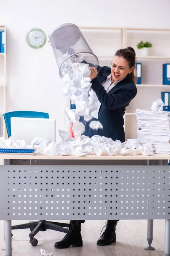
[[[12,256],[11,221],[4,221],[6,256]]]

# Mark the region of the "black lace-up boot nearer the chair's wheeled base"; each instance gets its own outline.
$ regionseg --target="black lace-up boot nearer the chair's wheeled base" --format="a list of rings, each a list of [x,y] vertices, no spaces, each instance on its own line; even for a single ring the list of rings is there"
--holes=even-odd
[[[68,232],[65,237],[55,243],[54,247],[58,249],[68,248],[71,245],[74,247],[82,246],[82,236],[81,236],[81,223],[77,221],[70,221]]]

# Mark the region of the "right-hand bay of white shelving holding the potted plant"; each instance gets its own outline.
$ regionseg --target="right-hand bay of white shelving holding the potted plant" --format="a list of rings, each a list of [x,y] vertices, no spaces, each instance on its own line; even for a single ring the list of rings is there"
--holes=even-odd
[[[136,84],[138,93],[126,108],[125,134],[127,138],[137,137],[136,108],[150,111],[153,101],[161,99],[161,92],[170,92],[170,86],[162,84],[162,64],[170,63],[170,29],[124,30],[124,47],[131,46],[136,51],[137,62],[142,63],[142,84]],[[149,56],[142,56],[136,45],[140,41],[150,41]]]

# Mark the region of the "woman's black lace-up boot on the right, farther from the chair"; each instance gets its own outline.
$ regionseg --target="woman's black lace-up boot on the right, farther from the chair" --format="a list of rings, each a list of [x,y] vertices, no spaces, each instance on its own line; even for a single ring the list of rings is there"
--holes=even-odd
[[[108,245],[116,242],[116,225],[117,222],[107,221],[105,231],[102,233],[102,236],[97,240],[97,245]],[[104,227],[103,227],[104,228]]]

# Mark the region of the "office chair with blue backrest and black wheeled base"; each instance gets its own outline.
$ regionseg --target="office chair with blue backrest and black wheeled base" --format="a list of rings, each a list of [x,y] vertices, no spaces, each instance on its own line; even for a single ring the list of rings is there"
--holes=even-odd
[[[31,118],[49,118],[48,113],[43,112],[35,112],[35,111],[13,111],[3,114],[5,123],[6,123],[6,130],[8,133],[8,137],[11,137],[11,117],[31,117]],[[69,224],[67,223],[58,223],[53,221],[30,221],[29,223],[20,224],[12,226],[12,230],[16,229],[27,229],[29,228],[31,233],[29,234],[30,243],[32,246],[36,246],[38,244],[38,240],[34,238],[34,236],[39,231],[46,231],[47,229],[56,230],[60,232],[65,232],[64,227],[68,227]]]

